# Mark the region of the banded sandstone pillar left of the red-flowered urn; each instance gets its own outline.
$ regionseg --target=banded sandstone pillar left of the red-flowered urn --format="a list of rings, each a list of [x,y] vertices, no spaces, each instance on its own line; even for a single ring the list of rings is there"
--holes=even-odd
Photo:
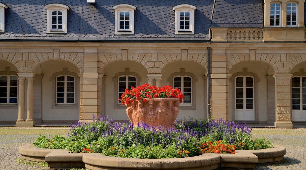
[[[84,68],[83,73],[80,76],[80,121],[93,120],[93,115],[97,116],[97,113],[101,111],[98,107],[101,107],[98,102],[98,96],[101,87],[98,83],[100,76],[98,74],[98,52],[96,48],[84,49]],[[103,76],[103,75],[102,75]]]

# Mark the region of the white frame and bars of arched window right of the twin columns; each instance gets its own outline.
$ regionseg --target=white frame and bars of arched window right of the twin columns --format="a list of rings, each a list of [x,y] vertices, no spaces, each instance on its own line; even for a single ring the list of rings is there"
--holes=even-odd
[[[64,92],[61,92],[61,93],[64,93],[64,103],[58,103],[57,102],[57,98],[58,98],[58,96],[57,96],[57,94],[58,94],[58,91],[57,91],[57,89],[58,89],[58,80],[57,80],[57,78],[58,77],[64,77]],[[73,103],[67,103],[67,77],[73,77],[74,78],[74,81],[73,81]],[[72,75],[59,75],[59,76],[56,76],[55,77],[55,82],[56,82],[56,86],[55,86],[55,105],[57,105],[57,106],[74,106],[74,104],[75,104],[75,102],[76,102],[76,92],[75,92],[75,90],[76,90],[76,78],[74,77],[74,76],[72,76]],[[61,97],[62,98],[62,97]],[[71,97],[69,97],[69,98],[71,98]]]

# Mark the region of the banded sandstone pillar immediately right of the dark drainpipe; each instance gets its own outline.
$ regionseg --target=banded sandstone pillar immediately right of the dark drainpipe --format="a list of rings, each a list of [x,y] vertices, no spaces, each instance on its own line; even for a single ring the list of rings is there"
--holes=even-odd
[[[211,116],[229,120],[228,77],[225,48],[212,48],[211,55]]]

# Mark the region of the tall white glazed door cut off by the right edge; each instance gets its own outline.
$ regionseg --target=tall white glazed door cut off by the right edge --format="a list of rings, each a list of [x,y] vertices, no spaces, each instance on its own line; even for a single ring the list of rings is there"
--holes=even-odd
[[[292,120],[306,121],[306,76],[292,78]]]

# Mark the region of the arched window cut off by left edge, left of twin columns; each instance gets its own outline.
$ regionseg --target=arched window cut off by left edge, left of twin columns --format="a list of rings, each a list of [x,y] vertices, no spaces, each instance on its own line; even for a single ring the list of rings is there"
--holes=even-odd
[[[18,90],[17,76],[2,75],[0,76],[0,104],[1,105],[16,105],[17,104],[17,90]]]

